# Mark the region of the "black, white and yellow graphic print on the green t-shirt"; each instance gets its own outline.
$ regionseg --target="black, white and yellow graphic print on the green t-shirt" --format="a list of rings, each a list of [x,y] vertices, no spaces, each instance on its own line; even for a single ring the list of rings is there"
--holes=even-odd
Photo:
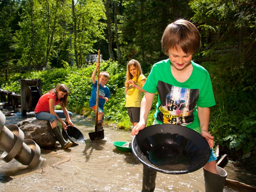
[[[193,122],[193,112],[199,96],[198,89],[182,88],[158,81],[157,90],[160,99],[157,120],[164,124],[182,126]]]

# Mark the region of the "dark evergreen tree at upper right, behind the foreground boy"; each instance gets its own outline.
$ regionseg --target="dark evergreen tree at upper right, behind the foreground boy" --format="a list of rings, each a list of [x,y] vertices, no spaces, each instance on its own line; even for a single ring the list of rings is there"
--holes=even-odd
[[[222,65],[221,73],[236,89],[256,89],[255,0],[193,0],[193,21],[206,41],[203,54]],[[239,77],[239,78],[238,78]]]

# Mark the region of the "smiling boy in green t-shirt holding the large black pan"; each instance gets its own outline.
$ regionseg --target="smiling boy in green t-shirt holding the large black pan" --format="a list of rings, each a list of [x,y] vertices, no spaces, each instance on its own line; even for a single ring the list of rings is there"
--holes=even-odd
[[[206,139],[210,148],[214,137],[208,132],[210,108],[215,105],[212,84],[208,72],[192,61],[201,44],[196,26],[186,20],[176,20],[169,24],[162,36],[162,50],[169,59],[160,61],[152,70],[143,86],[146,91],[140,106],[140,122],[134,126],[132,135],[146,127],[149,111],[155,93],[158,103],[154,114],[154,124],[178,124],[186,126]],[[204,171],[217,174],[216,156],[211,149],[209,161]],[[152,191],[155,187],[156,172],[143,166],[150,186],[143,184],[142,191]],[[153,176],[154,175],[154,176]]]

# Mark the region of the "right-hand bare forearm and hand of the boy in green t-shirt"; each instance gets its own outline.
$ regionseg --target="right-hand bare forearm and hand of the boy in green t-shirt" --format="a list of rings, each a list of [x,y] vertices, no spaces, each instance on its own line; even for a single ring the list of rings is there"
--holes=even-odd
[[[210,119],[210,108],[208,107],[197,107],[198,118],[200,121],[201,135],[206,139],[210,148],[214,146],[214,136],[208,131],[209,119]]]

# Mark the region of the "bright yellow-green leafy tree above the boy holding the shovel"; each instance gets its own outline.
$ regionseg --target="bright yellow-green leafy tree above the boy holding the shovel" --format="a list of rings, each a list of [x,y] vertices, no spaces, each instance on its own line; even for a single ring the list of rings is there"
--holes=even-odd
[[[76,31],[76,53],[78,66],[80,67],[86,62],[86,55],[96,51],[93,49],[94,44],[101,39],[105,39],[104,29],[106,24],[104,20],[106,14],[102,0],[79,0],[76,3],[75,10],[76,30],[73,30]]]

